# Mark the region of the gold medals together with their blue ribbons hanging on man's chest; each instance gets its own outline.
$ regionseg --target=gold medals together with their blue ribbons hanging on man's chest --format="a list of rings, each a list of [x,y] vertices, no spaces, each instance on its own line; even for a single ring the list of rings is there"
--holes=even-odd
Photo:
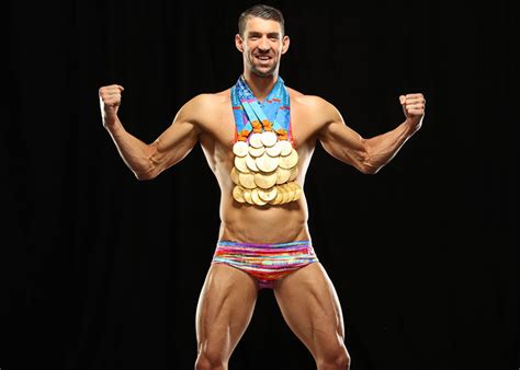
[[[244,77],[231,88],[235,154],[233,198],[257,206],[299,199],[298,153],[293,147],[289,93],[279,77],[262,104]]]

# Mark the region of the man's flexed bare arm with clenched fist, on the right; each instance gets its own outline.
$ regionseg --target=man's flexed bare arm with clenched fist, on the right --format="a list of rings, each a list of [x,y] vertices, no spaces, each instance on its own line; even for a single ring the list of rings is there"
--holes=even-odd
[[[325,150],[362,173],[377,173],[422,124],[426,104],[423,95],[402,95],[399,101],[405,113],[405,122],[393,130],[370,139],[362,138],[349,128],[340,113],[331,104],[324,102],[328,124],[320,130],[318,138]]]

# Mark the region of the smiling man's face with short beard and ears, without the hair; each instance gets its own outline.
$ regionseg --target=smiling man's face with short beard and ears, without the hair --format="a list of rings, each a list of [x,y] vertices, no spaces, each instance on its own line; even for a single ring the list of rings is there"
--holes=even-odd
[[[237,35],[235,42],[244,55],[245,68],[260,77],[278,71],[281,56],[289,48],[289,37],[282,35],[280,23],[260,18],[250,18],[244,39]]]

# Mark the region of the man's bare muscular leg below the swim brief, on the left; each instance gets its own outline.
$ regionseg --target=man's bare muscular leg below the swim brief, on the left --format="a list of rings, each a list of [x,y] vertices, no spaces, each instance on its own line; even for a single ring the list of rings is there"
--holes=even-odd
[[[196,370],[227,369],[238,340],[251,321],[258,289],[246,273],[212,264],[196,308]]]

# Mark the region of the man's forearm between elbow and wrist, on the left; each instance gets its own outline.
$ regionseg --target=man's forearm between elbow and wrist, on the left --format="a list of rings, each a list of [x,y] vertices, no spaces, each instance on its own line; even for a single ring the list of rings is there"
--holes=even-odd
[[[118,118],[111,125],[106,125],[105,128],[121,158],[135,176],[139,180],[149,178],[154,170],[151,161],[154,144],[147,144],[128,134]]]

